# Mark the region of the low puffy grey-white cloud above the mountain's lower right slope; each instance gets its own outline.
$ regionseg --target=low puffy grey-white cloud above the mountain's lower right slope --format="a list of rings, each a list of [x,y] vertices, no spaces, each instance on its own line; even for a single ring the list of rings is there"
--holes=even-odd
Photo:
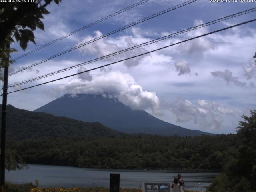
[[[200,128],[206,130],[216,130],[220,128],[223,118],[221,115],[234,115],[234,110],[225,108],[215,102],[197,100],[192,104],[189,100],[181,96],[171,105],[173,114],[177,117],[177,122],[188,122],[193,120]]]

